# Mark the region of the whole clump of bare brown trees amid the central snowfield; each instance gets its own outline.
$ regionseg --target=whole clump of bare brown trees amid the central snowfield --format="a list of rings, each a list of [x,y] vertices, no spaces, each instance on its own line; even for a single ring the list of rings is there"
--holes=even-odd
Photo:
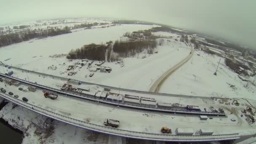
[[[157,46],[157,37],[152,35],[150,30],[126,32],[123,36],[128,37],[128,40],[117,40],[115,43],[109,41],[106,45],[92,43],[84,45],[82,48],[71,50],[67,54],[67,59],[118,61],[121,58],[135,56],[136,53],[143,51],[152,54]]]

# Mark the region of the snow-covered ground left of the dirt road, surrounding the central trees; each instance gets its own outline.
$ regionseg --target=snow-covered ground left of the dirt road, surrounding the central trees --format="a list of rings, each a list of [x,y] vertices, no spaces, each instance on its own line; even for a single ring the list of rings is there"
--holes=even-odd
[[[82,81],[97,84],[110,85],[121,88],[148,91],[152,82],[160,77],[166,70],[173,67],[179,61],[189,55],[190,47],[175,40],[163,39],[163,45],[157,46],[158,53],[148,55],[139,53],[134,58],[125,58],[124,67],[120,67],[115,62],[105,62],[102,66],[112,68],[111,73],[95,72],[93,77],[89,75],[87,65],[81,69],[76,69],[77,74],[68,76],[68,65],[75,61],[68,61],[65,57],[50,58],[49,55],[68,53],[72,48],[79,48],[89,43],[105,43],[109,40],[118,40],[125,32],[133,32],[139,29],[149,29],[153,26],[126,24],[115,27],[86,29],[66,35],[48,37],[46,39],[34,40],[33,43],[24,42],[1,48],[0,57],[6,64],[37,72],[44,72],[61,77],[69,77]],[[160,33],[159,33],[160,34]],[[145,59],[137,58],[147,56]],[[5,59],[9,59],[4,61]],[[77,60],[78,61],[78,60]],[[65,63],[65,64],[63,64]],[[95,64],[96,62],[94,62]],[[40,65],[40,66],[39,66]],[[48,69],[56,66],[56,70]]]

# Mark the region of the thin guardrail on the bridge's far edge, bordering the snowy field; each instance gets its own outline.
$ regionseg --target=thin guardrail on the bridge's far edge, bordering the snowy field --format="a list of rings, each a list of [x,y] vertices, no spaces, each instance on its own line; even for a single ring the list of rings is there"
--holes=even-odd
[[[49,75],[49,74],[45,74],[45,73],[41,73],[41,72],[35,72],[32,70],[27,70],[27,69],[21,69],[19,67],[13,67],[13,66],[9,66],[7,64],[0,64],[2,66],[8,66],[14,69],[19,69],[20,71],[24,71],[24,72],[31,72],[31,73],[35,73],[37,75],[44,75],[44,76],[48,76],[48,77],[55,77],[61,80],[69,80],[69,78],[65,78],[65,77],[59,77],[56,75]],[[72,79],[75,80],[75,79]],[[77,80],[80,81],[80,80]],[[169,93],[155,93],[155,92],[148,92],[148,91],[138,91],[138,90],[130,90],[130,89],[126,89],[126,88],[116,88],[116,87],[112,87],[112,86],[107,86],[107,85],[101,85],[101,84],[96,84],[96,83],[88,83],[88,82],[84,82],[84,81],[80,81],[83,84],[87,84],[87,85],[99,85],[103,88],[112,88],[115,90],[121,90],[121,91],[129,91],[129,92],[136,92],[136,93],[145,93],[145,94],[152,94],[152,95],[161,95],[161,96],[175,96],[175,97],[186,97],[186,98],[201,98],[201,99],[212,99],[211,97],[206,97],[206,96],[187,96],[187,95],[177,95],[177,94],[169,94]]]

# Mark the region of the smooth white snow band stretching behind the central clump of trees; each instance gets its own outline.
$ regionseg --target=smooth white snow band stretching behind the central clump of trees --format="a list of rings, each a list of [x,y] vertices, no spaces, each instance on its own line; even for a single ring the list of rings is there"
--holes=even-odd
[[[26,41],[8,45],[0,49],[0,61],[11,58],[8,60],[9,64],[27,64],[49,55],[68,53],[72,49],[81,48],[83,45],[90,43],[100,44],[109,40],[119,40],[125,32],[149,29],[151,27],[149,25],[123,24],[115,27],[84,29],[69,34],[33,40],[33,43]],[[32,59],[34,56],[37,57]]]

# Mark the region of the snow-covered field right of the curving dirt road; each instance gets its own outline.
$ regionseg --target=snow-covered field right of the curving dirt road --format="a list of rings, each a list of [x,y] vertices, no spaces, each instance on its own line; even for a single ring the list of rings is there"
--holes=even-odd
[[[213,75],[219,59],[221,61],[217,75]],[[248,88],[245,88],[246,84],[247,82],[240,80],[237,73],[225,65],[223,58],[195,51],[193,58],[165,81],[160,92],[256,99],[255,86],[249,84]],[[232,88],[230,85],[235,87]]]

